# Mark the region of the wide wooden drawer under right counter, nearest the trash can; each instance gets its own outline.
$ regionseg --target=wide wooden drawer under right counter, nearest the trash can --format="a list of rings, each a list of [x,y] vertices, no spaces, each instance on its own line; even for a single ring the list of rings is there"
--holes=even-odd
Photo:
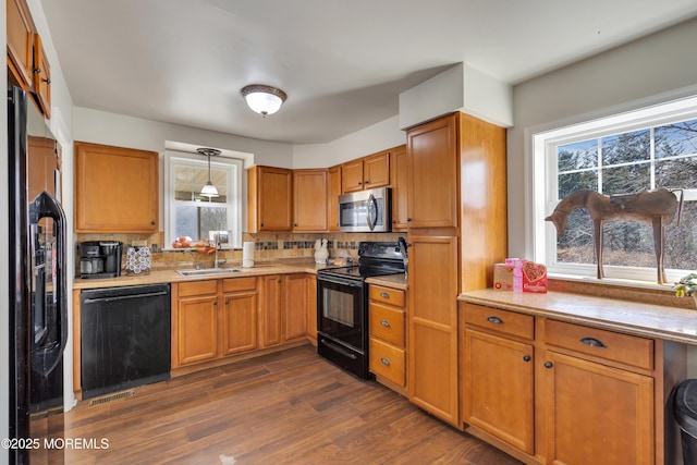
[[[545,342],[633,367],[653,369],[653,340],[555,320],[545,322]]]

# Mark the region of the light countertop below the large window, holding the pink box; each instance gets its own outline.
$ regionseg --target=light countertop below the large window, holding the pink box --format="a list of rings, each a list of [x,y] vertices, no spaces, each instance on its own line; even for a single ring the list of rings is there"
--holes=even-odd
[[[628,334],[697,345],[697,310],[694,308],[558,291],[534,294],[485,289],[463,293],[457,299]]]

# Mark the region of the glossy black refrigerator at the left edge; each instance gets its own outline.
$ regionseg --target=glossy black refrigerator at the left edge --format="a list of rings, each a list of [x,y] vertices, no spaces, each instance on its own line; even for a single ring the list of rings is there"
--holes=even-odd
[[[59,146],[30,99],[8,87],[9,455],[10,464],[62,464],[65,215],[51,164]]]

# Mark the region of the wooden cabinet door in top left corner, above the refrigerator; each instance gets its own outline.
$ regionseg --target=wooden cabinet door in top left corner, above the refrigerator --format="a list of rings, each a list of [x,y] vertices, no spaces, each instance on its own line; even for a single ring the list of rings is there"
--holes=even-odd
[[[8,65],[17,83],[28,90],[34,68],[34,22],[25,0],[8,0]]]

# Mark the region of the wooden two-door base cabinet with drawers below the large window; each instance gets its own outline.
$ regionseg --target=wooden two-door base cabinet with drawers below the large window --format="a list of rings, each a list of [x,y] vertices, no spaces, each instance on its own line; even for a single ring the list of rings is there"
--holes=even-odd
[[[684,347],[460,304],[465,430],[528,464],[675,463]]]

